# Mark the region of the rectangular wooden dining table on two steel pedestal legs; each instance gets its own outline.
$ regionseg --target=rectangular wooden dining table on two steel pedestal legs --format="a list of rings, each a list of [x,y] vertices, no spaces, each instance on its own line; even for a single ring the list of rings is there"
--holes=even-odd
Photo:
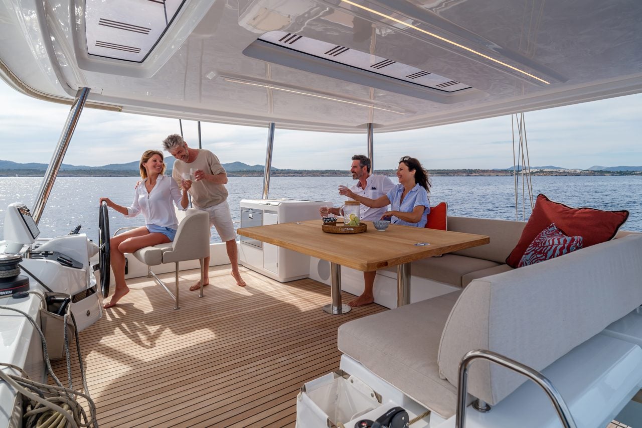
[[[399,307],[410,303],[412,262],[490,242],[485,235],[395,224],[377,231],[372,222],[362,223],[367,224],[363,233],[326,233],[320,219],[242,227],[236,233],[330,262],[332,303],[324,306],[329,314],[345,314],[351,309],[341,302],[341,266],[358,271],[397,266]]]

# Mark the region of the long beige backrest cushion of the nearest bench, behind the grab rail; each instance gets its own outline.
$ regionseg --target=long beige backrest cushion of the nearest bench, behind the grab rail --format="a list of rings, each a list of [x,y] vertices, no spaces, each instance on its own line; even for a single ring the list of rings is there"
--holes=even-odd
[[[640,260],[642,235],[629,235],[473,280],[446,322],[440,373],[456,385],[458,364],[474,349],[546,368],[642,304]],[[492,405],[523,382],[516,373],[476,361],[468,391]]]

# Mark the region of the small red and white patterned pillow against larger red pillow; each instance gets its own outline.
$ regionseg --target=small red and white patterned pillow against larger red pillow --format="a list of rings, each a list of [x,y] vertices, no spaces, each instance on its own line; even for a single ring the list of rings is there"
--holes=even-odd
[[[551,223],[528,245],[517,267],[534,265],[582,248],[582,236],[566,236]]]

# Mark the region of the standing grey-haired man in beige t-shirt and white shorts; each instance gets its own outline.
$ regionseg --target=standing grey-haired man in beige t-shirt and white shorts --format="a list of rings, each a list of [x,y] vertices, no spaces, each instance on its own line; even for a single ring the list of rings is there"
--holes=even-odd
[[[185,140],[178,134],[171,134],[162,142],[163,148],[175,157],[172,178],[180,185],[182,175],[191,174],[193,183],[189,188],[194,208],[209,213],[210,227],[216,227],[221,241],[225,242],[227,256],[232,265],[232,276],[236,284],[245,287],[241,278],[238,264],[238,249],[236,247],[236,231],[227,204],[227,174],[225,168],[209,150],[189,148]],[[209,266],[209,257],[205,258],[205,266]],[[209,271],[205,269],[205,283],[209,284]],[[200,289],[200,281],[189,287],[190,290]]]

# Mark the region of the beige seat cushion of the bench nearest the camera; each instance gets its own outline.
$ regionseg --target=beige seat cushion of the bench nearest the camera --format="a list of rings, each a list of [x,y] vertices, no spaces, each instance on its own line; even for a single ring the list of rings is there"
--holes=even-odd
[[[460,291],[349,321],[339,327],[341,352],[448,418],[455,414],[455,386],[440,379],[437,349]]]

